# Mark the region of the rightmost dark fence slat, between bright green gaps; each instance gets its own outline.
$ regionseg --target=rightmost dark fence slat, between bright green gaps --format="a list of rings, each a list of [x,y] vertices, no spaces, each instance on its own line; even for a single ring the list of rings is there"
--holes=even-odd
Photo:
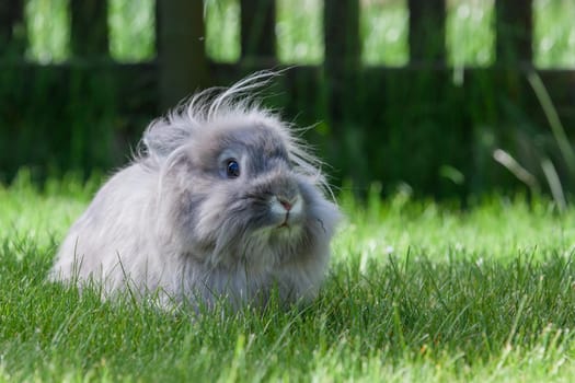
[[[532,59],[532,1],[495,0],[497,62]]]

